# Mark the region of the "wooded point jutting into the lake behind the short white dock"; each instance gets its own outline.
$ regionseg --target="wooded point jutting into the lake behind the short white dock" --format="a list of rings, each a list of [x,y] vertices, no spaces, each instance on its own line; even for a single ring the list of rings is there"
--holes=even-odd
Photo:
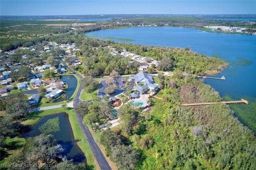
[[[175,68],[189,74],[216,74],[219,68],[227,65],[221,59],[208,57],[190,50],[174,47],[156,47],[127,43],[111,43],[119,49],[126,49],[142,57],[150,57],[159,63],[159,70],[170,71]]]

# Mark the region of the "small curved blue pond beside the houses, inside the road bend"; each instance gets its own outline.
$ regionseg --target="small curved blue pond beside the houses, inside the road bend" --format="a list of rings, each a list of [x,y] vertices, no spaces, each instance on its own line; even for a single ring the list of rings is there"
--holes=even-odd
[[[66,91],[66,95],[69,99],[76,90],[77,79],[73,75],[63,75],[60,76],[60,81],[68,84],[68,90]],[[62,102],[63,100],[63,98],[59,98],[58,100],[55,100],[54,103]]]

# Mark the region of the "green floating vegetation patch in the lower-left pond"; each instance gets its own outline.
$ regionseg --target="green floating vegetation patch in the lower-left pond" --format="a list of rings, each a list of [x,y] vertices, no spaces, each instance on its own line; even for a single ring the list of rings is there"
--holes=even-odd
[[[38,129],[41,133],[49,134],[49,133],[56,133],[60,131],[60,117],[54,117],[52,119],[49,119],[41,125]]]

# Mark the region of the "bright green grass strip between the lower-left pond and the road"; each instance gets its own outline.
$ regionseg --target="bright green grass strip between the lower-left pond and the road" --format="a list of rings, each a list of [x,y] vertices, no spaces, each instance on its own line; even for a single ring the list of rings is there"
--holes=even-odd
[[[49,109],[44,111],[36,111],[36,112],[28,113],[28,115],[24,117],[22,124],[32,125],[33,123],[36,123],[36,121],[38,121],[43,115],[51,115],[51,114],[60,113],[60,112],[68,113],[68,116],[69,116],[68,118],[72,127],[74,138],[75,140],[79,140],[78,146],[84,152],[88,165],[93,165],[96,170],[99,170],[100,167],[98,166],[98,163],[92,153],[92,150],[90,149],[89,144],[86,142],[86,139],[82,133],[82,130],[78,125],[78,122],[76,120],[76,115],[74,114],[73,109],[64,110],[63,108],[56,108],[56,109]]]

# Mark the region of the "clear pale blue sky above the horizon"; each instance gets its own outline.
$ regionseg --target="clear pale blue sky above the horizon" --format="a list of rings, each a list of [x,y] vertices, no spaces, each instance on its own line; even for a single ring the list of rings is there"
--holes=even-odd
[[[256,1],[0,0],[0,15],[256,14]]]

